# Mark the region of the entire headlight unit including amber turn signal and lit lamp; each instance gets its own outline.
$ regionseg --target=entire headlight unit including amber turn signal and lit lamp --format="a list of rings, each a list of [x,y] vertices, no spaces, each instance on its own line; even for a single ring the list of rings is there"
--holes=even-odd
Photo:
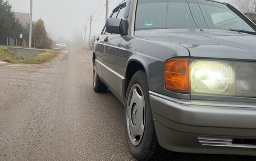
[[[173,58],[166,89],[179,93],[256,97],[256,63]]]

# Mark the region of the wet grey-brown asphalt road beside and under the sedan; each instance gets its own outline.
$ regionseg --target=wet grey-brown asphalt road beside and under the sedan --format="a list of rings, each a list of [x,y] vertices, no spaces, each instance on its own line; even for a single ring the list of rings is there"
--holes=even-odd
[[[0,160],[134,160],[124,107],[94,93],[92,54],[67,50],[44,65],[0,64]],[[173,155],[174,161],[255,157]]]

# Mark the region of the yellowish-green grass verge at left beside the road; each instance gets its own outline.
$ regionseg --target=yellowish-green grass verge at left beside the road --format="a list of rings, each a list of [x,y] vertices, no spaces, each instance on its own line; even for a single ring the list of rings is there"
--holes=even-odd
[[[9,63],[41,64],[56,57],[57,54],[58,52],[47,51],[29,59],[20,59],[8,53],[6,47],[0,46],[0,59]]]

